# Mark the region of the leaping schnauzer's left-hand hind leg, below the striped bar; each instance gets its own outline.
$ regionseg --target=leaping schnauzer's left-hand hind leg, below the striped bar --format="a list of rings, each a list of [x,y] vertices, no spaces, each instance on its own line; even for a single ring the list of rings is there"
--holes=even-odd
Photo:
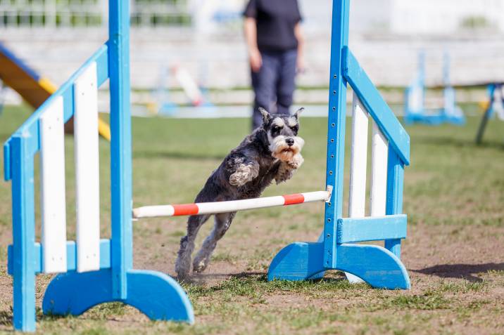
[[[175,263],[175,272],[179,280],[183,280],[191,270],[191,254],[194,251],[194,241],[199,228],[205,223],[210,215],[189,216],[187,220],[187,235],[180,239],[180,249]]]

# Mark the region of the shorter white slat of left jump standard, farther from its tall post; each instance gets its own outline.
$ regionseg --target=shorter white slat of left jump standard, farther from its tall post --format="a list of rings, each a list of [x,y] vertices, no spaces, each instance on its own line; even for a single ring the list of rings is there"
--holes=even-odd
[[[65,132],[63,97],[39,121],[42,271],[66,272]]]

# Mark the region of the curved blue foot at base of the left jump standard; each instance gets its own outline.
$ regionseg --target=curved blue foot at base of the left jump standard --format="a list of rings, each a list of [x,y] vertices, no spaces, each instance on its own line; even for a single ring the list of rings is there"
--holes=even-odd
[[[133,306],[151,320],[194,323],[194,311],[182,287],[168,275],[150,270],[127,272],[125,300],[113,298],[110,269],[57,275],[46,289],[42,310],[44,314],[81,315],[112,301]]]

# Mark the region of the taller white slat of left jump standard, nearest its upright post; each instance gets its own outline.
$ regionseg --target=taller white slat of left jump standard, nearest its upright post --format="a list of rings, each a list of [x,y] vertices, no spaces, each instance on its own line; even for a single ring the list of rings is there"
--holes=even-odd
[[[100,268],[100,182],[96,63],[75,81],[77,272]]]

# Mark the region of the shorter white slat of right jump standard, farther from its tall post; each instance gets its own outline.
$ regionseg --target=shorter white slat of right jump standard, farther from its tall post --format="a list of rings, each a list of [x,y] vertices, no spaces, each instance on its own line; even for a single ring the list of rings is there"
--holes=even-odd
[[[371,152],[371,216],[384,216],[386,209],[386,166],[389,143],[373,121]]]

